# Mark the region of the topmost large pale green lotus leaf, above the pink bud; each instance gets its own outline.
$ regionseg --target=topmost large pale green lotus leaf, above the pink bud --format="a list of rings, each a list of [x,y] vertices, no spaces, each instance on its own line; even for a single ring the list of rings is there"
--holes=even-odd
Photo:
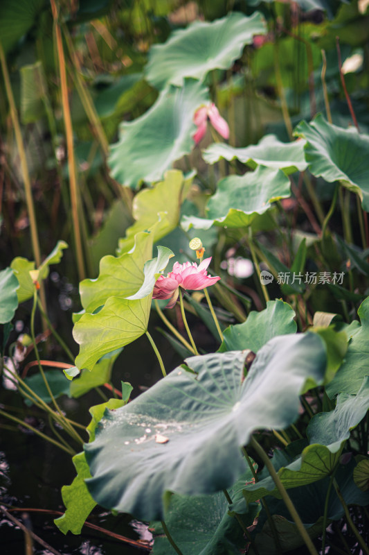
[[[212,23],[192,23],[174,31],[165,44],[152,46],[145,76],[158,89],[168,83],[181,87],[185,77],[204,80],[212,69],[231,67],[244,45],[253,42],[253,35],[264,33],[258,12],[251,17],[233,12]]]

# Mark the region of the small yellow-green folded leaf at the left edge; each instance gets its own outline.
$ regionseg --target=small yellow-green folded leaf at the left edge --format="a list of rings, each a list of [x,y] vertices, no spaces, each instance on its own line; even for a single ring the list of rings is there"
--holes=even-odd
[[[65,241],[57,241],[57,245],[51,251],[50,255],[44,259],[44,262],[39,265],[39,280],[44,280],[48,276],[48,266],[51,264],[58,264],[62,259],[62,251],[67,248],[68,245]],[[19,289],[17,290],[17,296],[19,302],[24,302],[33,297],[35,291],[35,286],[30,277],[30,271],[35,270],[35,262],[30,262],[26,258],[16,257],[10,267],[15,273],[17,280],[19,281]]]

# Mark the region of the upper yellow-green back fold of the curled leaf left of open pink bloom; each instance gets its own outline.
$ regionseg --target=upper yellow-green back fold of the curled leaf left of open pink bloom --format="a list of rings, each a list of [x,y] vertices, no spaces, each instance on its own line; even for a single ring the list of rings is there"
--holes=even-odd
[[[126,298],[140,289],[144,279],[143,266],[152,256],[152,239],[152,233],[136,234],[132,252],[119,257],[103,257],[98,278],[80,282],[82,307],[87,312],[105,305],[109,297]]]

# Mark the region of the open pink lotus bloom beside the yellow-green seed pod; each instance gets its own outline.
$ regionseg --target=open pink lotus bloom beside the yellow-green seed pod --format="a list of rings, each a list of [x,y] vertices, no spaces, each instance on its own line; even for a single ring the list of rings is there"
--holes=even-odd
[[[165,275],[160,275],[154,285],[153,299],[170,299],[167,308],[172,308],[177,302],[179,296],[179,287],[182,289],[190,289],[191,291],[199,291],[205,287],[215,284],[220,280],[216,275],[214,278],[206,272],[206,268],[210,264],[210,258],[206,258],[197,266],[196,262],[185,262],[179,264],[174,262],[173,271]]]

